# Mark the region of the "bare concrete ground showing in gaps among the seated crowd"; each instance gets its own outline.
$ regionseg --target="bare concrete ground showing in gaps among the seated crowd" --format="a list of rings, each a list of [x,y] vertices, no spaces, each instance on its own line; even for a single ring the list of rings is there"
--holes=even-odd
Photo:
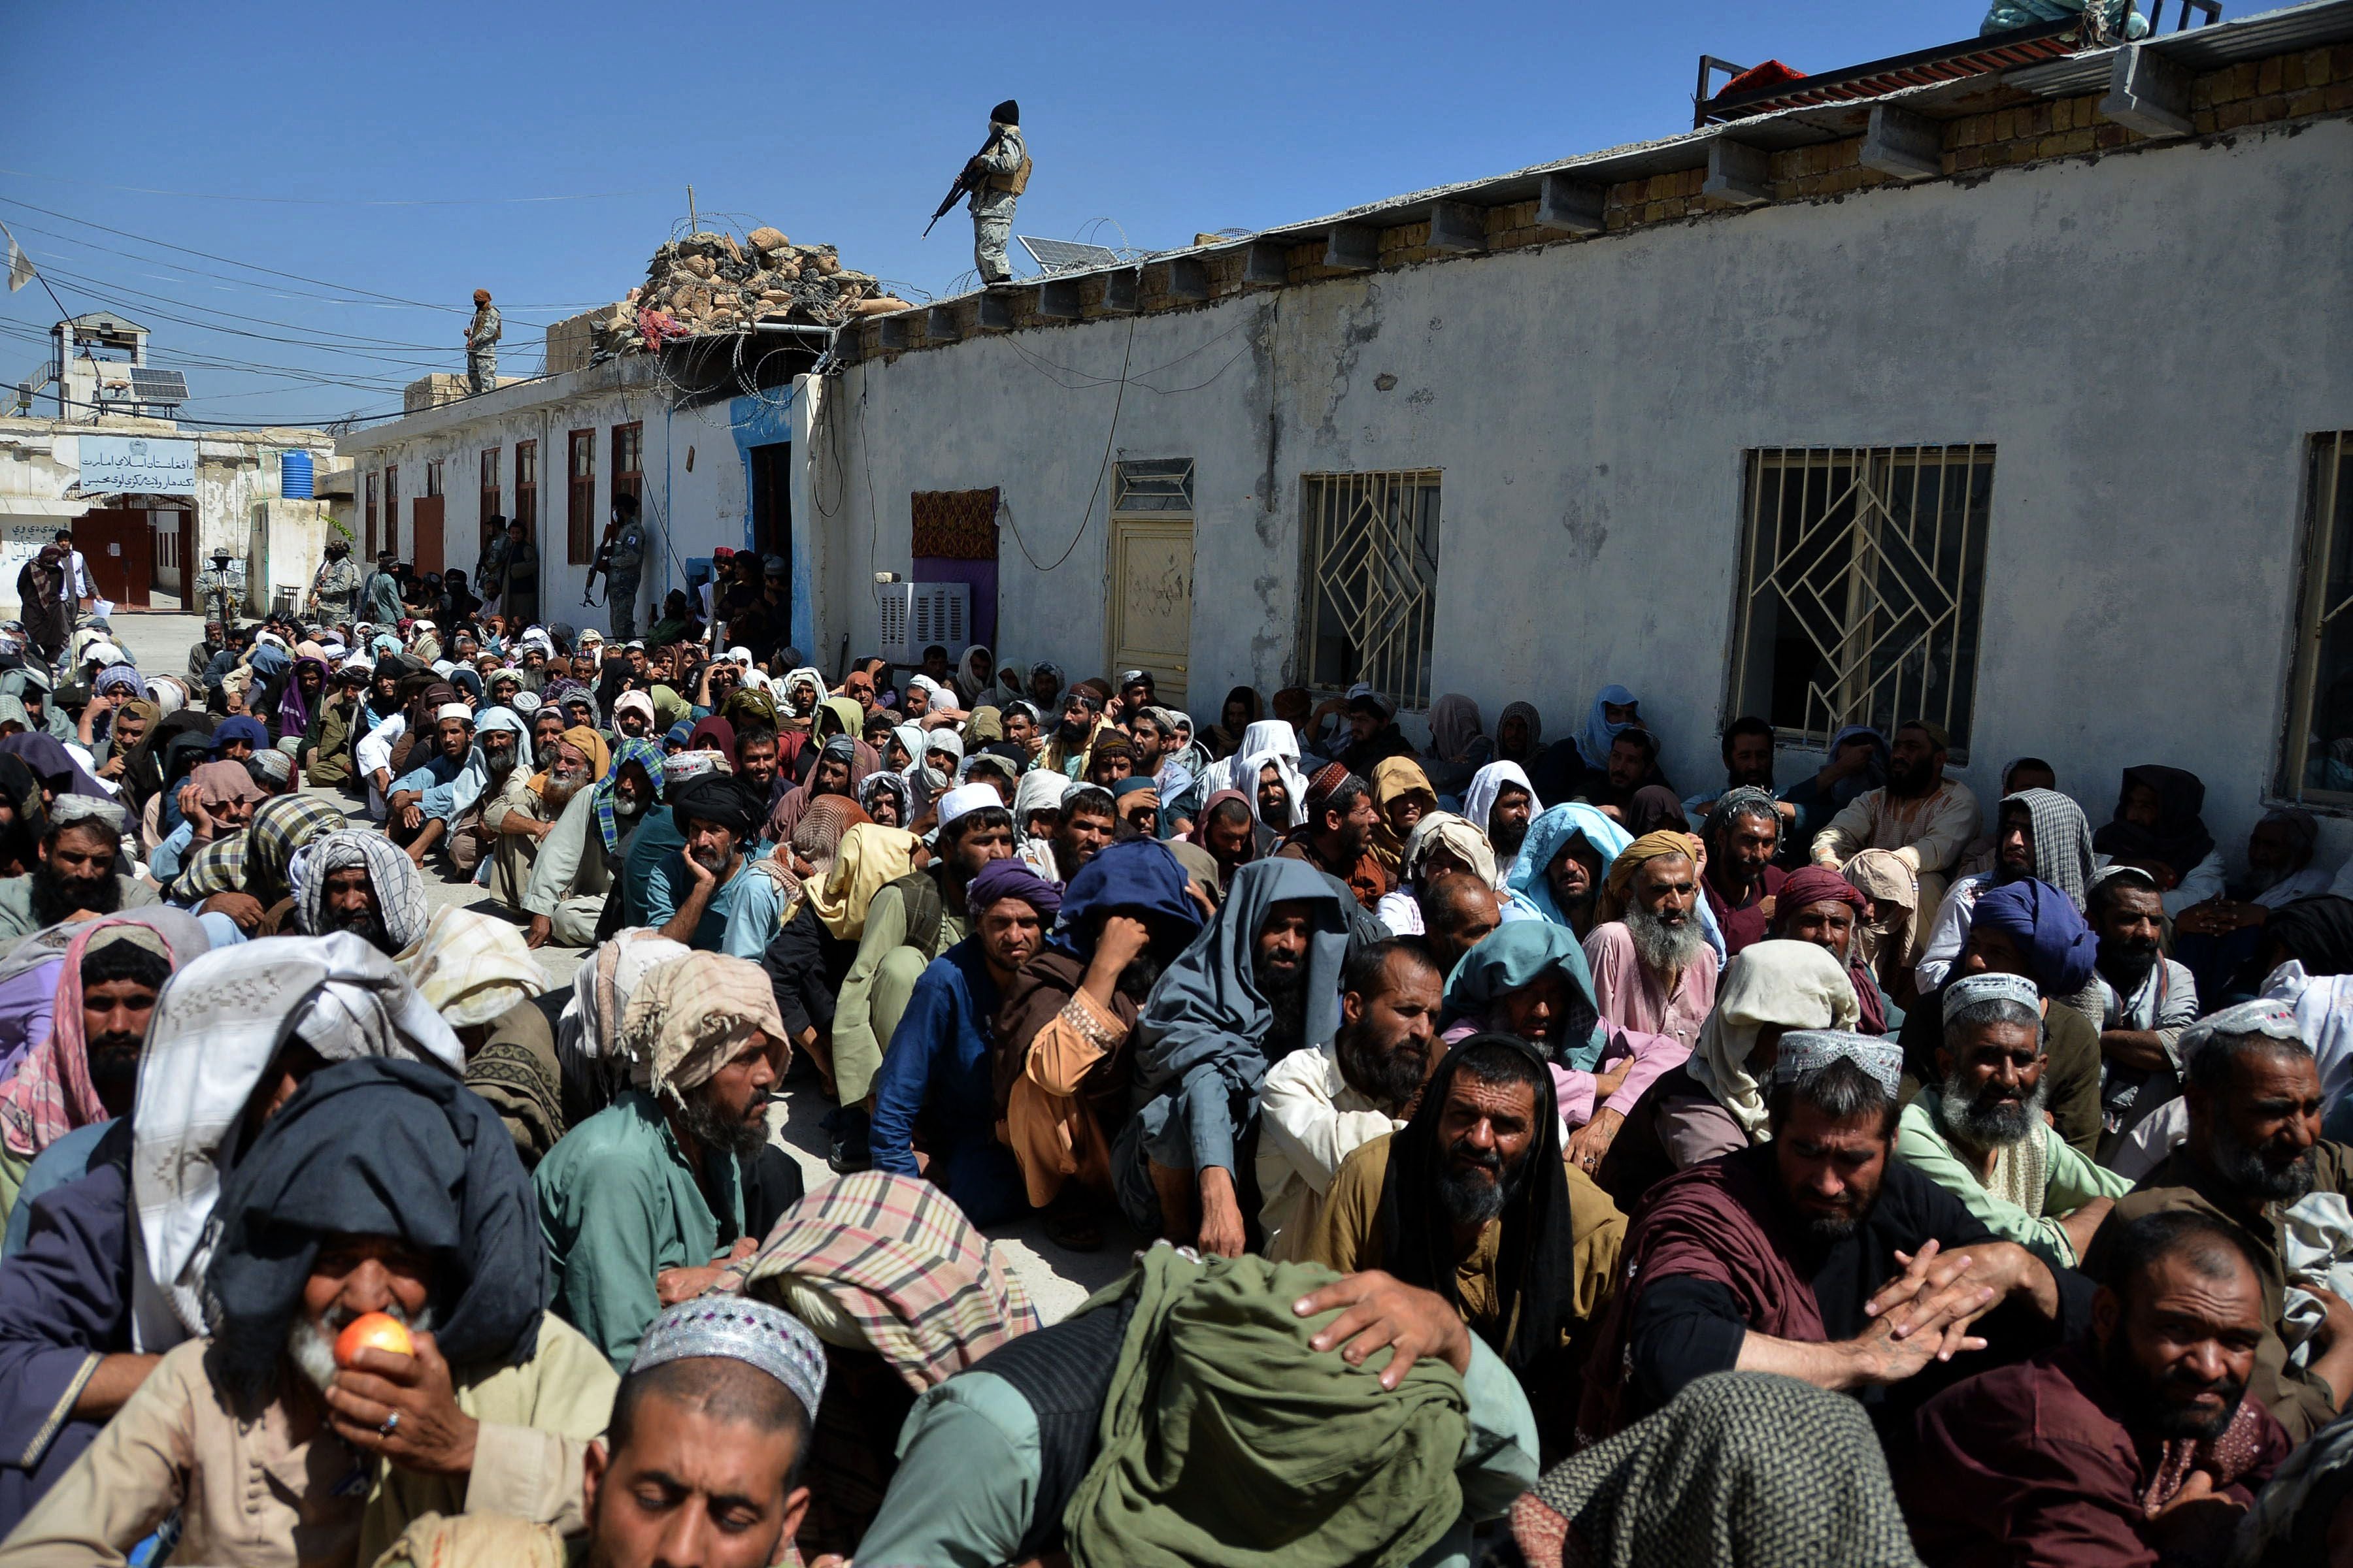
[[[181,614],[118,614],[113,628],[115,639],[132,661],[141,670],[153,672],[184,670],[188,646],[205,635],[198,616]],[[351,816],[355,827],[369,825],[365,799],[353,799],[329,788],[306,790],[306,795],[332,799]],[[494,903],[473,884],[445,879],[438,863],[426,865],[426,903],[433,910],[461,907],[499,919],[515,919],[511,910]],[[536,957],[548,976],[548,987],[569,987],[584,954],[586,947],[541,947]],[[772,1112],[774,1138],[800,1161],[812,1190],[833,1180],[833,1173],[826,1168],[826,1133],[819,1126],[819,1117],[824,1114],[826,1100],[816,1091],[816,1081],[807,1074],[793,1079],[776,1095],[776,1110]],[[1071,1253],[1054,1246],[1045,1239],[1045,1229],[1035,1220],[998,1225],[988,1234],[1005,1248],[1014,1274],[1028,1288],[1031,1300],[1047,1321],[1066,1316],[1096,1286],[1118,1279],[1134,1246],[1139,1246],[1139,1239],[1125,1225],[1113,1225],[1104,1248],[1096,1253]]]

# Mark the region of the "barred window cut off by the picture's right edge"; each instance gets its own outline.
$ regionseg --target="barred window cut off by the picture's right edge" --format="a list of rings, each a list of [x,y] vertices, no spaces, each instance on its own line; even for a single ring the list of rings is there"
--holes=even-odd
[[[2278,792],[2353,806],[2353,430],[2311,440],[2304,583]]]

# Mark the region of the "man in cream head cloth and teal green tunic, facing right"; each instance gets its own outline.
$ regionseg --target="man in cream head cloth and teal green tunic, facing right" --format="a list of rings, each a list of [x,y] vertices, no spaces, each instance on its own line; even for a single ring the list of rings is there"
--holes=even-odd
[[[758,1246],[739,1159],[767,1145],[767,1095],[791,1060],[767,976],[715,952],[642,976],[621,1048],[631,1088],[532,1173],[558,1260],[553,1307],[614,1366],[628,1366],[664,1293],[701,1291],[732,1246]]]

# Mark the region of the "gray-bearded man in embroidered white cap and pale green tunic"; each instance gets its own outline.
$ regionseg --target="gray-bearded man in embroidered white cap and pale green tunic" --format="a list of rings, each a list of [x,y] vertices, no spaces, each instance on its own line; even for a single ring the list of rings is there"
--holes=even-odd
[[[2042,1114],[2049,1056],[2035,983],[1962,976],[1937,1004],[1944,1081],[1904,1107],[1897,1161],[1958,1197],[1995,1237],[2052,1267],[2075,1267],[2132,1182],[2061,1143]]]

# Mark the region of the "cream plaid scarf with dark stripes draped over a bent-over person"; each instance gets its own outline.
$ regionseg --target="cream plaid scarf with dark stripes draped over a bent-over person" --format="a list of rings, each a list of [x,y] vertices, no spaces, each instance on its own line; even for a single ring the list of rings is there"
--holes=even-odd
[[[861,1340],[922,1392],[1038,1328],[988,1239],[939,1187],[861,1171],[793,1204],[720,1288],[795,1312],[819,1338]]]

